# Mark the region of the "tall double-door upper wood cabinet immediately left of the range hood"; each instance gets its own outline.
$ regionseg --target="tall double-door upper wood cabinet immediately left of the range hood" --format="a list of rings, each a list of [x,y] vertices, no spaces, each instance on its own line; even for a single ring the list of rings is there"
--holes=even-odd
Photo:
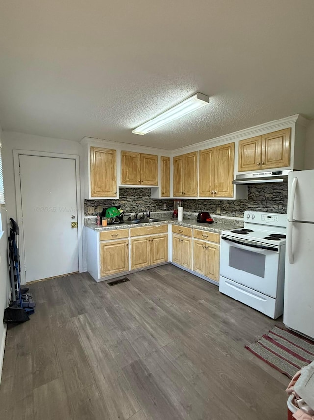
[[[200,150],[199,197],[233,197],[235,143]]]

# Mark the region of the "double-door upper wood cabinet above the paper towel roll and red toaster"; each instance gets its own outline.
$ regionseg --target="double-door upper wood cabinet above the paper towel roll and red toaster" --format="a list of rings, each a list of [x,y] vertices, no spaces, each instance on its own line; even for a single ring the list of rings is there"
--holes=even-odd
[[[197,197],[197,151],[173,158],[174,197]]]

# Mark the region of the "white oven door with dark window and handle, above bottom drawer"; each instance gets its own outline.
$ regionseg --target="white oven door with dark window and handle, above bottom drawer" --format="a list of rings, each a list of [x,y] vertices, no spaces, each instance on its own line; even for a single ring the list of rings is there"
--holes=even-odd
[[[221,236],[220,275],[276,298],[280,247]]]

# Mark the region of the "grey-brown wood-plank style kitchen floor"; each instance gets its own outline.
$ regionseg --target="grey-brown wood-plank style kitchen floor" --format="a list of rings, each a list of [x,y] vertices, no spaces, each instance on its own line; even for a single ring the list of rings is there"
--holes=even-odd
[[[280,322],[171,265],[129,278],[31,285],[36,313],[7,333],[1,420],[287,419],[288,378],[244,348]]]

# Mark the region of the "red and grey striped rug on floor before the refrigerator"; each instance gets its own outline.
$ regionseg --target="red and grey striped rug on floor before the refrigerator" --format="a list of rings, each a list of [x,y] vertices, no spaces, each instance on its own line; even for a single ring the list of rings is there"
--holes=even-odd
[[[290,379],[314,360],[313,341],[278,326],[245,348]]]

